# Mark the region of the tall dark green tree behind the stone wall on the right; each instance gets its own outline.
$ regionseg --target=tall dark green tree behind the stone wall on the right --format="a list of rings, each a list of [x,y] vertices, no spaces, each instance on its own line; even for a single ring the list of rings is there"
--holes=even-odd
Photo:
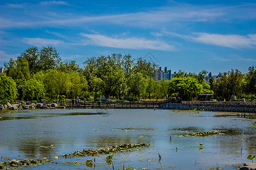
[[[214,83],[214,95],[230,101],[232,96],[241,95],[242,93],[242,79],[241,71],[231,70],[228,73],[221,74],[220,78]]]

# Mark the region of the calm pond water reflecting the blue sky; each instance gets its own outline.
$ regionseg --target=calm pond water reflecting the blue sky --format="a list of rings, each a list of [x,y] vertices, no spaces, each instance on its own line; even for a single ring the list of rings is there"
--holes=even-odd
[[[145,143],[154,147],[115,154],[115,169],[123,168],[123,165],[134,169],[161,168],[158,151],[164,169],[237,169],[228,165],[250,162],[247,156],[256,154],[255,120],[237,117],[236,113],[56,109],[0,113],[0,116],[0,157],[10,159],[44,158],[83,149]],[[225,134],[212,137],[177,136],[188,131],[211,130],[222,130]],[[199,143],[203,143],[203,150],[199,149]],[[52,148],[49,147],[51,145]],[[29,169],[113,169],[105,162],[106,156],[94,157],[98,164],[93,168],[85,164],[64,163],[85,163],[92,159],[88,156],[62,158],[57,160],[57,164]]]

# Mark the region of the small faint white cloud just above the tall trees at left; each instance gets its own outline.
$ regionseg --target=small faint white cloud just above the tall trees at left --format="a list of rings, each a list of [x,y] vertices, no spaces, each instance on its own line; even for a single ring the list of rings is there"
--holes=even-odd
[[[34,46],[63,46],[65,42],[62,40],[52,40],[52,39],[41,39],[41,38],[23,38],[22,40],[26,44],[34,45]]]

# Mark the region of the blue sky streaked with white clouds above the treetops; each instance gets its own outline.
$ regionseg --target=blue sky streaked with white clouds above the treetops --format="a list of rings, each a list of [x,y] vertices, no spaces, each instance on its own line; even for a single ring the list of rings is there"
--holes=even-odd
[[[81,67],[121,53],[172,72],[247,73],[256,65],[256,1],[1,1],[0,66],[31,46],[53,46]]]

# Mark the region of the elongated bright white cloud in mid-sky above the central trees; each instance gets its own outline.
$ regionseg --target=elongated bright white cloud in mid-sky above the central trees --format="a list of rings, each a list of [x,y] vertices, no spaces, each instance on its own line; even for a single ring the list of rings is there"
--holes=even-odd
[[[131,37],[126,39],[117,39],[98,34],[81,33],[82,36],[87,37],[88,44],[96,46],[108,46],[112,48],[121,49],[152,49],[163,51],[175,51],[175,46],[168,45],[166,42],[160,40],[147,40],[138,37]]]

